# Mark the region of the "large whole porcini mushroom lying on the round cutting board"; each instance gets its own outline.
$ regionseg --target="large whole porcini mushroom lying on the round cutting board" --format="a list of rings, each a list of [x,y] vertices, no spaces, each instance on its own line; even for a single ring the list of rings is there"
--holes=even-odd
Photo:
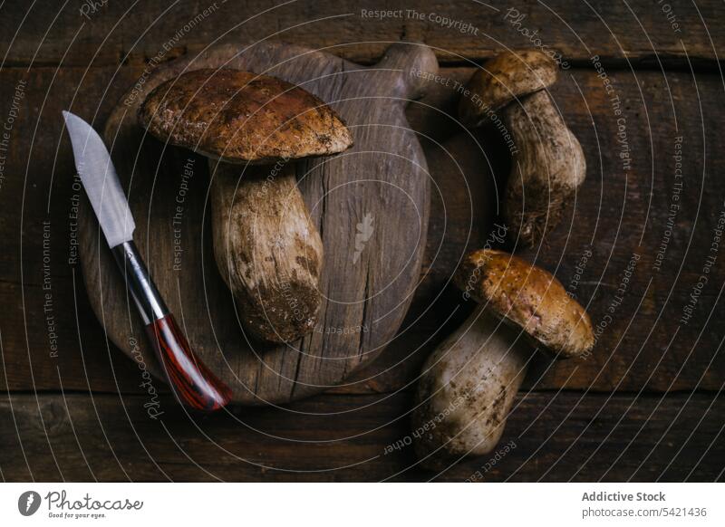
[[[197,70],[150,92],[140,122],[209,158],[214,254],[245,327],[290,342],[314,329],[323,245],[291,159],[335,154],[350,130],[311,93],[266,75]]]

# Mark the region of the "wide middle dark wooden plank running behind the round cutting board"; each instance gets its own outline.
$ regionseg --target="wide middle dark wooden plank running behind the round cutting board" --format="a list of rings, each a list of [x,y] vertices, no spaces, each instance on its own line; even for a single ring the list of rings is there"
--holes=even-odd
[[[59,116],[61,110],[70,108],[91,118],[98,109],[94,124],[100,129],[111,105],[141,72],[138,67],[124,67],[118,72],[115,68],[89,72],[75,68],[58,72],[52,68],[18,69],[0,80],[0,101],[7,104],[3,108],[9,108],[18,81],[25,80],[28,86],[20,117],[14,122],[12,149],[7,152],[0,187],[4,210],[17,209],[20,204],[24,207],[22,215],[5,215],[0,220],[0,233],[6,241],[6,249],[0,253],[0,301],[8,306],[0,326],[5,350],[2,388],[57,389],[60,371],[67,389],[140,389],[138,367],[112,346],[107,347],[89,309],[77,265],[73,271],[67,264],[73,159]],[[445,69],[442,75],[444,79],[465,81],[470,72]],[[601,80],[590,71],[573,70],[573,77],[563,75],[552,94],[584,146],[589,176],[577,196],[573,219],[567,218],[538,254],[523,253],[556,272],[565,286],[588,304],[594,324],[605,327],[591,358],[568,363],[538,359],[528,385],[604,391],[720,389],[725,372],[725,359],[718,352],[725,337],[725,328],[718,323],[718,313],[723,309],[720,286],[725,281],[721,249],[691,319],[687,324],[678,322],[700,283],[725,200],[725,184],[719,177],[725,171],[725,160],[718,155],[725,141],[718,111],[720,77],[701,74],[693,78],[683,72],[666,77],[657,72],[638,72],[636,77],[626,72],[608,73],[622,101],[632,169],[626,174],[622,169],[616,137],[618,118]],[[425,355],[463,319],[463,311],[471,308],[461,304],[459,293],[446,284],[460,255],[478,248],[487,237],[478,220],[471,219],[472,210],[482,209],[475,185],[485,161],[469,156],[468,168],[461,175],[451,171],[446,157],[441,158],[440,151],[436,154],[430,140],[424,139],[430,136],[445,141],[460,133],[456,123],[445,116],[455,108],[452,82],[449,86],[433,83],[430,97],[413,102],[408,112],[411,127],[427,142],[434,180],[423,280],[400,337],[370,369],[339,388],[343,391],[387,392],[406,386],[415,378]],[[76,91],[79,95],[71,104]],[[0,114],[0,119],[5,116]],[[501,163],[501,151],[505,154],[505,150],[498,148],[490,133],[480,137],[486,139],[484,145],[498,173],[506,174],[505,163]],[[662,270],[655,271],[658,247],[668,237],[677,137],[683,138],[681,207],[674,217]],[[460,139],[453,146],[455,156],[461,159],[470,149]],[[465,181],[471,187],[470,196]],[[51,221],[53,314],[60,347],[57,358],[50,357],[43,313],[44,219]],[[577,278],[576,267],[587,250],[593,257]],[[641,254],[640,260],[623,301],[617,303],[616,291],[635,251]],[[23,281],[25,286],[20,285]],[[78,323],[73,298],[78,302]],[[614,308],[613,320],[607,321],[604,317],[610,307]]]

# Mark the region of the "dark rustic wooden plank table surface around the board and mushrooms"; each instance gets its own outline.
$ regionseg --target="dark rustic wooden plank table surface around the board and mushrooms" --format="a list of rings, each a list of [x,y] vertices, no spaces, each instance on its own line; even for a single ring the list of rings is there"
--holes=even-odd
[[[275,4],[0,5],[2,478],[464,481],[478,471],[474,479],[485,481],[723,479],[720,0]],[[391,16],[374,13],[381,9]],[[163,415],[151,419],[143,372],[106,340],[74,260],[81,190],[61,110],[101,129],[121,94],[160,62],[260,39],[361,63],[401,39],[436,51],[441,78],[408,110],[433,180],[420,287],[399,336],[343,387],[205,417],[164,392]],[[502,49],[534,45],[558,50],[569,66],[552,96],[588,172],[571,216],[546,243],[515,249],[587,306],[597,346],[585,360],[536,358],[509,417],[505,455],[430,473],[409,446],[414,380],[471,309],[449,277],[484,243],[477,220],[490,195],[478,170],[486,156],[497,175],[507,170],[491,133],[475,135],[478,149],[451,117],[457,82]]]

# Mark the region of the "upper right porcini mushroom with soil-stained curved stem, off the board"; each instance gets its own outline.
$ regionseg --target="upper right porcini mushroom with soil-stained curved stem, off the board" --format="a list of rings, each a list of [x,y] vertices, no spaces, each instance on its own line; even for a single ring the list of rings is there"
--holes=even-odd
[[[546,91],[557,72],[545,53],[501,53],[471,76],[459,101],[466,126],[500,119],[513,138],[503,208],[510,231],[530,245],[559,224],[586,175],[582,147]]]

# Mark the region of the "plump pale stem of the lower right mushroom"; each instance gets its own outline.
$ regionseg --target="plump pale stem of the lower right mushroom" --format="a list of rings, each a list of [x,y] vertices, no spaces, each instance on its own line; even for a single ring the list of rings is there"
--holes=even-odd
[[[532,353],[520,329],[478,307],[430,355],[412,418],[422,465],[496,447]]]

